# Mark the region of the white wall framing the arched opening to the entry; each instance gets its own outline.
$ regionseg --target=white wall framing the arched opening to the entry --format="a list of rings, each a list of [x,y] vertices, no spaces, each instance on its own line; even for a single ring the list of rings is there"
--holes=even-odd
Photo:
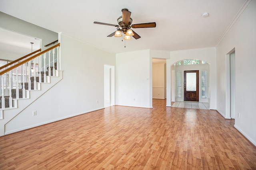
[[[214,47],[170,52],[170,59],[166,60],[166,106],[171,106],[171,66],[184,59],[199,59],[209,63],[210,109],[216,109],[216,49]]]

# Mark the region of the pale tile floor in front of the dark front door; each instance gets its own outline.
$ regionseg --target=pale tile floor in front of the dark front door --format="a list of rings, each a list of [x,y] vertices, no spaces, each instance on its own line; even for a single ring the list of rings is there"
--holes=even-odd
[[[209,104],[206,102],[174,102],[172,107],[184,107],[192,109],[209,109]]]

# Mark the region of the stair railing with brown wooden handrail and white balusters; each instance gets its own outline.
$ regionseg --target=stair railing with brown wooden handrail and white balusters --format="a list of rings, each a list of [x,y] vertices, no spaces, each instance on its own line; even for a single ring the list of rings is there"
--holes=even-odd
[[[0,109],[14,107],[13,98],[27,98],[26,90],[38,90],[37,82],[47,82],[46,76],[55,76],[55,67],[59,69],[59,46],[60,43],[40,53],[34,51],[37,54],[30,53],[21,57],[24,60],[20,58],[0,67]]]

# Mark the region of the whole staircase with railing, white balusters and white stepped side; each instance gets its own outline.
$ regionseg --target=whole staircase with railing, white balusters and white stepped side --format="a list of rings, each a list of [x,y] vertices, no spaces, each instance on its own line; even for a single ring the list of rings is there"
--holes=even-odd
[[[0,70],[0,136],[5,135],[6,123],[62,80],[58,63],[59,46],[60,43]],[[57,55],[54,55],[55,51]],[[32,64],[38,64],[38,70],[34,67],[35,75],[28,74]],[[18,70],[21,71],[18,73]],[[13,84],[16,84],[14,88]]]

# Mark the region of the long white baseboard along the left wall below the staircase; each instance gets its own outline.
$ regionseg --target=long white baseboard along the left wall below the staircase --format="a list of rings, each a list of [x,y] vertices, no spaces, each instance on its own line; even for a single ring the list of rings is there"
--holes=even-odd
[[[19,128],[19,129],[14,129],[14,130],[11,130],[11,131],[6,131],[4,133],[4,135],[8,135],[8,134],[15,133],[15,132],[18,132],[18,131],[24,131],[26,129],[31,129],[31,128],[34,128],[34,127],[38,127],[38,126],[45,125],[45,124],[48,124],[48,123],[53,123],[55,121],[60,121],[60,120],[63,120],[63,119],[67,119],[67,118],[74,117],[74,116],[77,116],[77,115],[82,115],[82,114],[89,113],[89,112],[96,111],[96,110],[100,110],[100,109],[104,109],[104,107],[100,107],[100,108],[93,109],[93,110],[88,110],[88,111],[81,112],[81,113],[76,113],[76,114],[73,114],[73,115],[68,115],[68,116],[65,116],[65,117],[60,117],[58,119],[45,121],[45,122],[38,123],[38,124],[35,124],[35,125],[30,125],[30,126],[22,127],[22,128]]]

